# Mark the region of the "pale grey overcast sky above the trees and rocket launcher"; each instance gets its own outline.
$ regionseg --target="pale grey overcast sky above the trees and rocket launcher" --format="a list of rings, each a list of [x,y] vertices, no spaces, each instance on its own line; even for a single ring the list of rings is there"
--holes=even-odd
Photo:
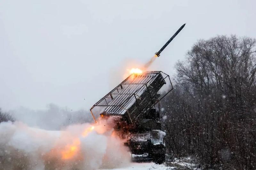
[[[255,6],[254,0],[0,0],[0,107],[89,109],[184,23],[151,69],[173,75],[198,39],[256,38]]]

